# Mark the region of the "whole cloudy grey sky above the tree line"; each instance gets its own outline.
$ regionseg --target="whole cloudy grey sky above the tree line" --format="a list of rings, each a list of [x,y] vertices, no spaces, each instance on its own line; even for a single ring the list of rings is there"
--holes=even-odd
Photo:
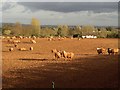
[[[118,0],[96,1],[4,0],[1,22],[30,24],[35,17],[41,25],[118,26]]]

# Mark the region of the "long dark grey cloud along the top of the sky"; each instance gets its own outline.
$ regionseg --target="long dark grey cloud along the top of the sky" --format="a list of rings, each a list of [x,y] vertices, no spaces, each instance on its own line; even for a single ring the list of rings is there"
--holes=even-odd
[[[100,13],[118,10],[117,2],[18,2],[18,4],[25,6],[32,12],[48,10],[64,13],[79,11]]]

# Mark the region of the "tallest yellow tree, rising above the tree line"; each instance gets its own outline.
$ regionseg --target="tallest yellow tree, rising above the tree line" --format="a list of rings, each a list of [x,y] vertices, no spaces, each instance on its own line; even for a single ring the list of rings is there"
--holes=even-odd
[[[40,22],[39,22],[39,20],[36,18],[32,18],[31,25],[32,25],[32,34],[38,36],[40,34]]]

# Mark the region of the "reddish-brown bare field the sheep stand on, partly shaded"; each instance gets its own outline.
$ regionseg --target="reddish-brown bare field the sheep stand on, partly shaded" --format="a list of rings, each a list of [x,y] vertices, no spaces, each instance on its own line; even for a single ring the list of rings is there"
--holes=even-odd
[[[117,88],[118,55],[98,55],[97,47],[118,48],[118,39],[21,39],[19,51],[6,39],[2,41],[3,88]],[[74,52],[73,60],[54,60],[51,49]]]

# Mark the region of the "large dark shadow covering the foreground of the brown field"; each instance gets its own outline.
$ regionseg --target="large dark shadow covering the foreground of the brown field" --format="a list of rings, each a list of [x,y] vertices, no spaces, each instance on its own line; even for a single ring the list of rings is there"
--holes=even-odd
[[[118,55],[84,55],[69,62],[47,61],[42,67],[37,65],[6,73],[3,88],[52,88],[52,82],[55,88],[118,87]]]

